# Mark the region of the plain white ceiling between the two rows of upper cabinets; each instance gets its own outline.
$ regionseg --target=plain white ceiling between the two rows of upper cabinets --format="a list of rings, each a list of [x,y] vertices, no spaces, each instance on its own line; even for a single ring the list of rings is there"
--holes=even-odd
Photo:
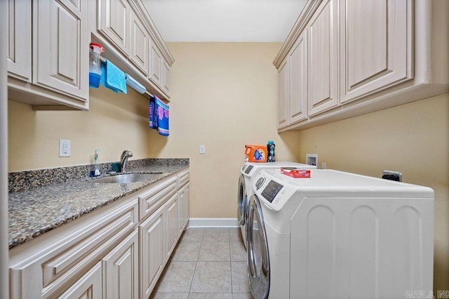
[[[307,0],[144,0],[165,41],[285,41]]]

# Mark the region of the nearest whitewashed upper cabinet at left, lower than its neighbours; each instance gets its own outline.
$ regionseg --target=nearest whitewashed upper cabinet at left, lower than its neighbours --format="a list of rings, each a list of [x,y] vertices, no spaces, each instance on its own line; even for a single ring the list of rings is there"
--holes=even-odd
[[[8,98],[88,109],[87,0],[8,0]]]

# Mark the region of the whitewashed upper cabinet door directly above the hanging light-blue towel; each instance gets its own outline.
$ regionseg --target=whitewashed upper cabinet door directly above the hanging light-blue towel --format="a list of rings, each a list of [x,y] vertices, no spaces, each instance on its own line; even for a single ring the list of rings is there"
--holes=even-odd
[[[100,1],[98,29],[126,54],[129,53],[130,10],[127,0]]]

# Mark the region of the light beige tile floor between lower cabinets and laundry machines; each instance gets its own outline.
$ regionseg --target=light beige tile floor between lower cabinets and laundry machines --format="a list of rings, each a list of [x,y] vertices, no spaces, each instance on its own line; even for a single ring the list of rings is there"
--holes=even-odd
[[[150,298],[252,299],[240,228],[189,228]]]

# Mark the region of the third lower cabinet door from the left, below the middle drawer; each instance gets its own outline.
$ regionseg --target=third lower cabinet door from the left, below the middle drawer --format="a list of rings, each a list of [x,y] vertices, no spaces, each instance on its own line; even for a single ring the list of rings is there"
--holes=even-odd
[[[164,265],[164,214],[161,206],[139,225],[140,239],[140,298],[149,298]]]

